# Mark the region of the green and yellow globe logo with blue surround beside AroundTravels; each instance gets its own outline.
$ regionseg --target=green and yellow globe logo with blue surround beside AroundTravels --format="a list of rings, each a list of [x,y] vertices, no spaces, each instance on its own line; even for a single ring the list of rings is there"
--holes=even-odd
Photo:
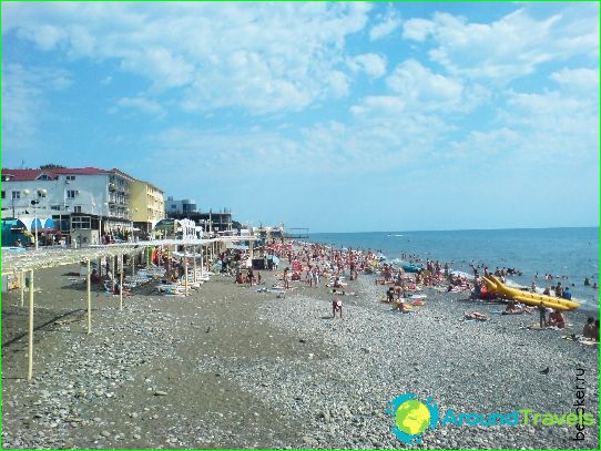
[[[414,393],[393,400],[387,412],[395,418],[393,433],[405,443],[421,443],[421,434],[438,426],[438,406],[430,398],[420,401]]]

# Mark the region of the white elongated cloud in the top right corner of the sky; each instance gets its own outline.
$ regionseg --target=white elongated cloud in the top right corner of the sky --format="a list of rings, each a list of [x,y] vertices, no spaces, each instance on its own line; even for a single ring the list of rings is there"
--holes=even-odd
[[[538,20],[517,10],[491,23],[476,23],[437,12],[431,20],[407,21],[404,37],[431,37],[437,44],[429,52],[431,60],[452,74],[502,84],[532,74],[543,63],[598,57],[599,16],[557,13]]]

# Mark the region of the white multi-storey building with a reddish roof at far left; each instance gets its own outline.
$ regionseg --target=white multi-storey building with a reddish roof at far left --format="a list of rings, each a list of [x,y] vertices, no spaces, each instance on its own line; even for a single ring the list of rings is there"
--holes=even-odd
[[[21,219],[29,230],[54,228],[131,233],[130,184],[119,170],[2,170],[2,217]]]

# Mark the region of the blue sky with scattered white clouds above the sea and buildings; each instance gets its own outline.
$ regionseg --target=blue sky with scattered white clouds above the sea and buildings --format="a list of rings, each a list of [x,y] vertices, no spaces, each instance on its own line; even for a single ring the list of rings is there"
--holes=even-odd
[[[2,3],[2,166],[313,232],[597,226],[599,6]]]

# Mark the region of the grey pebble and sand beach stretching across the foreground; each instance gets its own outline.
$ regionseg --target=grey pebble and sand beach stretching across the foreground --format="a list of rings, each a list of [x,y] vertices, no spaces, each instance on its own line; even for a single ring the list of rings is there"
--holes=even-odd
[[[6,449],[451,448],[594,449],[598,427],[455,427],[407,445],[390,431],[390,401],[411,392],[441,411],[532,409],[572,413],[583,370],[587,411],[599,410],[598,347],[580,334],[530,330],[538,315],[467,293],[421,291],[410,314],[378,299],[361,275],[332,319],[325,281],[278,297],[213,276],[191,296],[159,296],[152,284],[119,298],[68,280],[72,267],[35,274],[33,381],[27,382],[27,298],[2,301],[2,440]],[[275,274],[262,271],[265,286]],[[480,311],[488,321],[464,320]]]

